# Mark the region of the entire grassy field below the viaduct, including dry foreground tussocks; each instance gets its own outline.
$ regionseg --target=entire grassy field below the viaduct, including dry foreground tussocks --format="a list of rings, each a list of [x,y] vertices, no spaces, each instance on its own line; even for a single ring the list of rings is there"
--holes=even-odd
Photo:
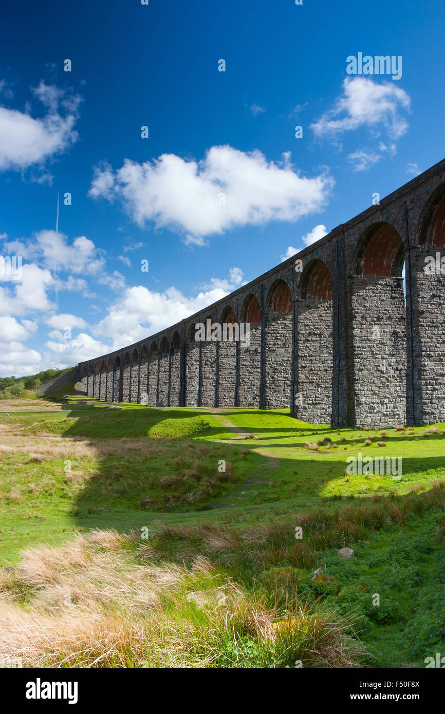
[[[1,403],[0,651],[126,667],[445,651],[444,424],[78,401]],[[360,453],[401,473],[350,473]]]

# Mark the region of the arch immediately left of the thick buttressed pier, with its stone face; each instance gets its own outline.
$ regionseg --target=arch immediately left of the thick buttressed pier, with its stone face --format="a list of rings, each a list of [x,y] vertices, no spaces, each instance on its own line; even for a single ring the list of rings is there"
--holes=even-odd
[[[301,421],[331,423],[332,278],[319,258],[306,263],[299,281],[292,411]]]

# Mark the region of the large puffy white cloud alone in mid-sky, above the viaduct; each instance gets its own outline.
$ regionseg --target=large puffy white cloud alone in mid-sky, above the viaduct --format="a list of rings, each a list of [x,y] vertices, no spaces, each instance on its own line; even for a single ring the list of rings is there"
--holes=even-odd
[[[231,228],[296,221],[320,211],[333,185],[327,171],[315,178],[299,175],[289,153],[275,164],[261,151],[213,146],[199,163],[163,154],[144,164],[126,159],[117,171],[102,165],[89,195],[117,197],[139,226],[154,221],[157,228],[182,233],[186,243],[203,245],[204,236]]]

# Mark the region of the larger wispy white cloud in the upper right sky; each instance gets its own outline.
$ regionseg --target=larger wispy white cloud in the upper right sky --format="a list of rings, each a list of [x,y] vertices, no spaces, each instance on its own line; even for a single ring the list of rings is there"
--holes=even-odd
[[[334,108],[311,124],[318,139],[329,137],[336,141],[345,131],[366,126],[376,129],[383,125],[392,139],[399,139],[408,129],[400,110],[409,111],[410,98],[406,91],[394,83],[377,83],[364,77],[346,78],[344,94],[339,96]]]

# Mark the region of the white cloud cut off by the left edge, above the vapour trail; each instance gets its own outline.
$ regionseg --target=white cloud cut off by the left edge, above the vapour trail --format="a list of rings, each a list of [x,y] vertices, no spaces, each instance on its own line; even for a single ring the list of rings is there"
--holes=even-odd
[[[35,96],[48,108],[46,116],[33,119],[28,113],[0,106],[0,171],[22,171],[42,164],[66,151],[77,139],[73,127],[78,117],[78,96],[64,97],[64,91],[43,81]],[[59,104],[64,111],[59,113]]]

